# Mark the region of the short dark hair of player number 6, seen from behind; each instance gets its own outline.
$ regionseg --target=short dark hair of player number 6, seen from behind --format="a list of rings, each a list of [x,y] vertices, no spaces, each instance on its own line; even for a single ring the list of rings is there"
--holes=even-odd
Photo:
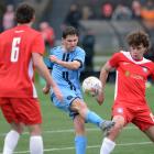
[[[22,3],[16,8],[15,21],[18,23],[30,23],[34,18],[35,10],[28,3]]]

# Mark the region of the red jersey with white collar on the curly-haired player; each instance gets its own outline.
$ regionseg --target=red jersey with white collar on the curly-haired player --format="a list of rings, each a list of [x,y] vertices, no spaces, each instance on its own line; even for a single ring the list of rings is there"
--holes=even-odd
[[[144,58],[134,61],[130,52],[116,53],[109,64],[117,69],[116,101],[145,102],[145,82],[154,77],[154,63]]]

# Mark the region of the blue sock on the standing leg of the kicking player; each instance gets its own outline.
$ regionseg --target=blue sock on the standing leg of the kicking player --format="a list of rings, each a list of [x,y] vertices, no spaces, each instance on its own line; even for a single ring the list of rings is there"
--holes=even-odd
[[[75,138],[76,154],[86,154],[87,138],[84,135],[77,135]]]

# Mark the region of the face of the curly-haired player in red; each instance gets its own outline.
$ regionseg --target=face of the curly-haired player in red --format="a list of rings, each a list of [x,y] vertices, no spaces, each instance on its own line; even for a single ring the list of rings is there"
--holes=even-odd
[[[135,61],[142,59],[145,51],[146,51],[146,48],[143,45],[130,46],[130,54],[131,54],[132,58]]]

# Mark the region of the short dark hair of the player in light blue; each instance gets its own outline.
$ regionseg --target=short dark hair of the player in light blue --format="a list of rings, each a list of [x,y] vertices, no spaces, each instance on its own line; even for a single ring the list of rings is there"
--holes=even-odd
[[[63,31],[63,38],[66,38],[67,35],[79,35],[78,30],[74,26],[66,26],[66,29]]]

